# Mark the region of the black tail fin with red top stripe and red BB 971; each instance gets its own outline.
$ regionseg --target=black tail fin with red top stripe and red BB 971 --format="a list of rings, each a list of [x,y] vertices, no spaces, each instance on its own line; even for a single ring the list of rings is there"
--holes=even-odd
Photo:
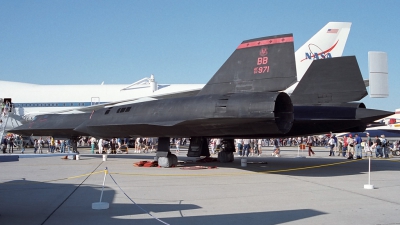
[[[243,41],[198,95],[280,91],[295,83],[293,35]]]

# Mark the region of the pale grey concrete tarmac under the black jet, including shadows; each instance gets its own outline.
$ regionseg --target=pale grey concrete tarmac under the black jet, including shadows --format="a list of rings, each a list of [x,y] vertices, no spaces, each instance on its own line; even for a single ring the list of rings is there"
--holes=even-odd
[[[264,147],[262,157],[246,158],[246,167],[240,157],[196,163],[185,150],[174,168],[133,166],[155,153],[103,161],[79,151],[80,160],[0,163],[0,224],[400,224],[399,157],[371,159],[369,190],[368,159],[329,157],[323,147],[312,157],[296,147],[272,157]],[[104,177],[109,208],[95,210]]]

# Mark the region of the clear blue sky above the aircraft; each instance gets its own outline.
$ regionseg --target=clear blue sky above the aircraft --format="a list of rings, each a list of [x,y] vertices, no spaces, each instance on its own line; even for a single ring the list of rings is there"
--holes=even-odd
[[[400,108],[400,1],[0,0],[0,79],[36,84],[205,84],[247,39],[293,33],[295,50],[326,23],[352,22],[343,55],[368,79],[368,51],[388,54]],[[1,87],[0,87],[1,93]]]

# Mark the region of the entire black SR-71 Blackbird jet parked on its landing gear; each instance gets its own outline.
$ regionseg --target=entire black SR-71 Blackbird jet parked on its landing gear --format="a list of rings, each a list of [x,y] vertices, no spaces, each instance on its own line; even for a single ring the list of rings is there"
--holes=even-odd
[[[366,109],[367,95],[354,56],[315,60],[297,81],[293,35],[243,41],[205,87],[192,97],[147,101],[85,114],[37,116],[11,132],[75,138],[159,137],[157,156],[176,156],[170,137],[190,137],[188,156],[209,156],[208,137],[223,138],[220,161],[233,160],[233,138],[362,132],[393,112]]]

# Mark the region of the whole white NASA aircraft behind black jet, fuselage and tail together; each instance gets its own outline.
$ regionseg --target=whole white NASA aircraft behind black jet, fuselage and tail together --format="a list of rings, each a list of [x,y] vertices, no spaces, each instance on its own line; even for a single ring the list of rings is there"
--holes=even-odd
[[[297,82],[285,90],[286,93],[293,92],[313,60],[342,56],[350,27],[349,22],[329,22],[296,51]],[[0,81],[0,87],[0,101],[13,105],[10,116],[2,118],[4,132],[40,114],[91,112],[118,104],[193,96],[204,84],[158,85],[151,76],[129,85],[38,85]]]

